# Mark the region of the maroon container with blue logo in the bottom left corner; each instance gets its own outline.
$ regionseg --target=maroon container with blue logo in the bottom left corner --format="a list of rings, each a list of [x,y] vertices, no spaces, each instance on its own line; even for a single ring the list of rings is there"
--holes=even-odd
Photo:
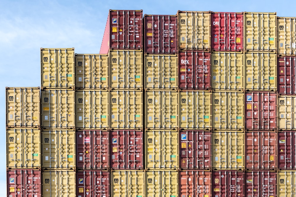
[[[41,197],[41,171],[36,169],[7,171],[7,196]]]

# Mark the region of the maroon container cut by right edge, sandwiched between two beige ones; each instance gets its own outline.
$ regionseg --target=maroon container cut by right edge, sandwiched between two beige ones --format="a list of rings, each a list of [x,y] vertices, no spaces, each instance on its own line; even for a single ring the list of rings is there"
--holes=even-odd
[[[278,92],[284,95],[296,94],[296,57],[278,57]]]

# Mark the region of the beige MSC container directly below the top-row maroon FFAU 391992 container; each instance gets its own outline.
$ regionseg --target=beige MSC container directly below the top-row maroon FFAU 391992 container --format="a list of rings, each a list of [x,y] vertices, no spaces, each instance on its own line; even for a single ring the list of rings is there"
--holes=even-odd
[[[142,50],[112,50],[109,56],[111,88],[143,87]]]

